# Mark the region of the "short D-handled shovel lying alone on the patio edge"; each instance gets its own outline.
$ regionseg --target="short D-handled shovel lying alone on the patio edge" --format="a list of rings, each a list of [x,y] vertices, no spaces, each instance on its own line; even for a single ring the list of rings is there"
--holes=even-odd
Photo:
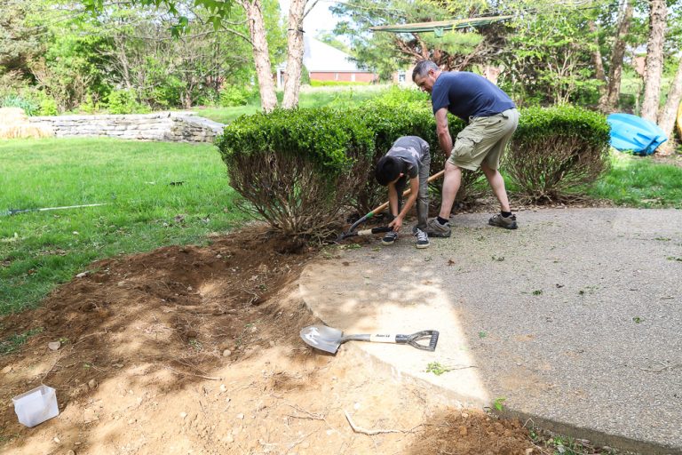
[[[417,331],[411,335],[377,333],[377,334],[358,334],[345,335],[344,332],[326,325],[309,325],[301,329],[301,339],[306,344],[335,354],[338,347],[346,341],[371,341],[375,343],[395,343],[399,345],[409,345],[424,351],[435,351],[438,344],[438,331]],[[421,344],[418,341],[428,339],[428,344]]]

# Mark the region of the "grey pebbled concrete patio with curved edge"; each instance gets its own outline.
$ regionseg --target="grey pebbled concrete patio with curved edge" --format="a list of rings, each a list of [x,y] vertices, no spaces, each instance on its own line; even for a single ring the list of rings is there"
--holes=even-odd
[[[416,250],[337,248],[301,277],[307,305],[345,333],[440,331],[434,353],[349,342],[467,406],[504,408],[563,434],[682,454],[682,211],[453,217]],[[426,372],[437,362],[450,371]]]

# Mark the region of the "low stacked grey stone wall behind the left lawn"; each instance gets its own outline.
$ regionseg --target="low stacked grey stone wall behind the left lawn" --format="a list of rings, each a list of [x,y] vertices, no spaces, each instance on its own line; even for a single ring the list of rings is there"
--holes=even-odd
[[[31,124],[52,128],[58,138],[90,136],[127,140],[212,142],[225,125],[193,112],[107,116],[36,116]]]

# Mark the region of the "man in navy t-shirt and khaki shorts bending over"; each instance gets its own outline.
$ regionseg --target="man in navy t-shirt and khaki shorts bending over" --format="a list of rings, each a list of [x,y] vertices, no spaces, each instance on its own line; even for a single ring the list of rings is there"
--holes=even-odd
[[[416,64],[412,80],[421,90],[431,93],[438,141],[448,156],[440,213],[429,222],[426,233],[450,236],[448,220],[462,182],[462,169],[475,171],[479,166],[500,203],[500,213],[490,218],[488,224],[516,229],[516,216],[509,206],[504,179],[497,171],[504,148],[519,124],[519,111],[512,99],[483,76],[465,71],[443,72],[430,60]],[[454,147],[448,130],[448,111],[467,122],[457,134]]]

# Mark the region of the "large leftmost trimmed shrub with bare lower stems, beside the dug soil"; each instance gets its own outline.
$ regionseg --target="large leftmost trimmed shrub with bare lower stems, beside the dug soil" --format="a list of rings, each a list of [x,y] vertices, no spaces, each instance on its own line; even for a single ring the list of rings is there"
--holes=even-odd
[[[329,108],[242,116],[217,139],[230,185],[286,235],[324,237],[367,178],[372,132]]]

